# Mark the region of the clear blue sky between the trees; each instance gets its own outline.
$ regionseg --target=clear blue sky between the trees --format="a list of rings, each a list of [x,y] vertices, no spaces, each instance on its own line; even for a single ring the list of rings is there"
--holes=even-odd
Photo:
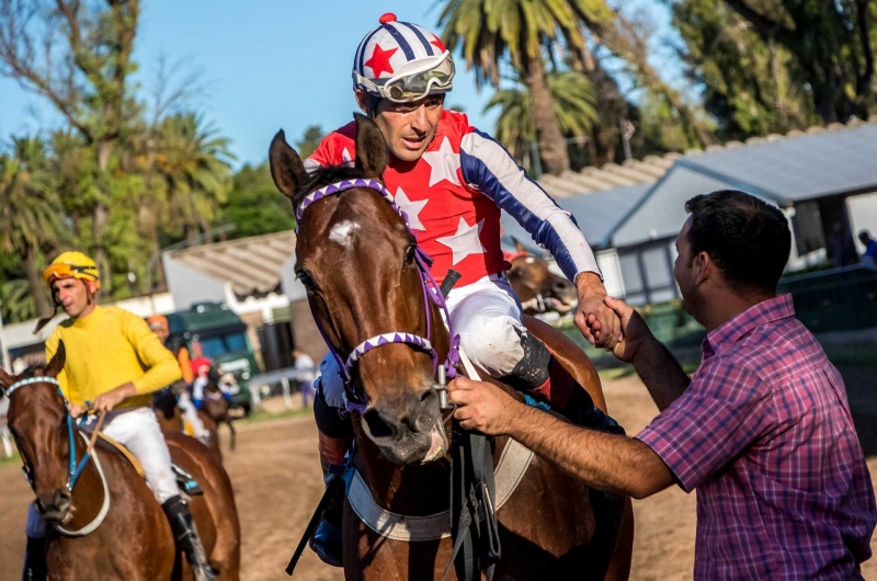
[[[198,109],[231,138],[236,166],[259,163],[278,128],[294,140],[309,125],[330,130],[351,119],[356,109],[350,79],[353,54],[381,13],[394,12],[399,20],[440,33],[435,25],[440,3],[146,0],[135,45],[140,65],[135,81],[148,91],[161,56],[170,62],[184,60],[178,79],[201,71],[206,89]],[[660,20],[661,13],[654,13]],[[477,92],[475,76],[460,59],[457,62],[447,104],[462,105],[475,125],[490,132],[497,112],[481,111],[492,90]],[[60,123],[42,98],[0,77],[0,143]]]

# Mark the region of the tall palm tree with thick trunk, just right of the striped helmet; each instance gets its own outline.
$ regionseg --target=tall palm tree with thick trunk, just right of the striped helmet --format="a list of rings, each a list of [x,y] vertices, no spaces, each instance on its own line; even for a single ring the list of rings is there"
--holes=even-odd
[[[551,103],[543,53],[562,41],[573,70],[590,61],[582,26],[611,22],[605,0],[447,0],[438,24],[452,52],[459,45],[480,86],[499,87],[500,61],[511,59],[529,93],[533,124],[548,173],[569,170],[567,145]]]

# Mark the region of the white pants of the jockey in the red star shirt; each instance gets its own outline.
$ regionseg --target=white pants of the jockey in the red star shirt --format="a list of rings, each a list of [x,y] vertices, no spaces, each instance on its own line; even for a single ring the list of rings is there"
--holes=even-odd
[[[446,303],[454,332],[459,334],[459,346],[469,360],[493,377],[512,373],[524,356],[521,338],[526,328],[521,321],[521,303],[505,274],[493,274],[454,288]],[[344,407],[344,385],[331,353],[320,363],[320,374],[315,385],[322,390],[326,402],[333,408]]]

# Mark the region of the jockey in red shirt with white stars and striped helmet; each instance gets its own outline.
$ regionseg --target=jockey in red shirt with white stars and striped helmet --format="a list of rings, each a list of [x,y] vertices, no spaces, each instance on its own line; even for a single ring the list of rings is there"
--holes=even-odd
[[[612,349],[620,322],[603,303],[606,292],[588,241],[570,214],[500,144],[471,127],[463,113],[443,110],[455,69],[438,36],[398,22],[390,13],[379,22],[356,49],[353,90],[360,109],[375,121],[387,143],[391,155],[385,185],[407,214],[418,244],[434,260],[433,276],[441,282],[452,267],[462,274],[447,297],[460,349],[475,365],[550,403],[573,422],[613,425],[545,345],[527,333],[504,274],[500,213],[511,214],[551,251],[578,288],[579,328],[593,317],[600,329],[596,345]],[[352,163],[354,137],[355,123],[329,134],[305,160],[305,168]],[[314,406],[326,471],[329,465],[343,463],[353,432],[343,412],[344,389],[335,360],[327,356],[320,369]],[[602,394],[594,395],[603,405]],[[334,566],[341,566],[339,505],[333,502],[323,513],[311,539],[311,548]]]

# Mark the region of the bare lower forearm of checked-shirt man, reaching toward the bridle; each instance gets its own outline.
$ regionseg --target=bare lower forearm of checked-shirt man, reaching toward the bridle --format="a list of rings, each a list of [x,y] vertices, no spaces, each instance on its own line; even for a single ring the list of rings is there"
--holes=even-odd
[[[535,408],[520,411],[509,435],[592,488],[645,498],[673,481],[663,460],[638,440],[578,428]]]

